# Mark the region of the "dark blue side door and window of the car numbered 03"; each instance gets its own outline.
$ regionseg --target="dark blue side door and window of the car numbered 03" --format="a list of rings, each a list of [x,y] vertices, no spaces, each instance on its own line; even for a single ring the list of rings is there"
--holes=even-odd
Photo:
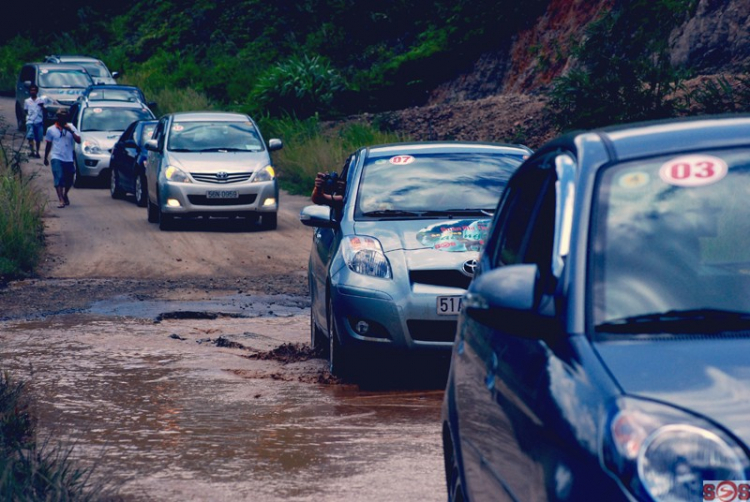
[[[548,156],[530,160],[512,178],[480,260],[480,275],[516,263],[551,269],[555,188],[554,159]],[[469,498],[545,500],[545,469],[529,449],[542,425],[533,403],[546,347],[499,333],[468,315],[462,317],[457,343],[453,371]]]

